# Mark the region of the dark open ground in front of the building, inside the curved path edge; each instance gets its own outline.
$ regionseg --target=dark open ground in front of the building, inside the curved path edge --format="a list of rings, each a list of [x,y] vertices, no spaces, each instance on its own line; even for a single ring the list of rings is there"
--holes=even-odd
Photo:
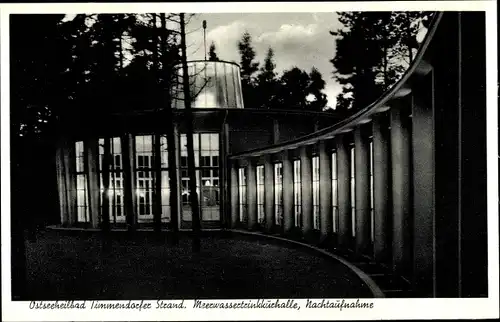
[[[191,252],[149,237],[45,231],[26,242],[27,300],[372,297],[347,267],[305,247],[242,236],[204,236]]]

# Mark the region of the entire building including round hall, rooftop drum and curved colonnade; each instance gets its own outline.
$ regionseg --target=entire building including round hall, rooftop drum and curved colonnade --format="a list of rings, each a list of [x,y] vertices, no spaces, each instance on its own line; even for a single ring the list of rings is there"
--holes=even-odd
[[[232,63],[192,62],[190,73],[200,91],[202,228],[333,245],[386,267],[417,296],[487,296],[484,13],[436,14],[403,78],[349,117],[243,107]],[[205,74],[207,84],[197,78]],[[177,187],[166,180],[169,120],[161,114],[113,115],[93,131],[65,133],[57,155],[63,226],[99,227],[104,140],[113,154],[112,224],[150,224],[160,136],[162,220],[178,216],[180,228],[190,227],[185,110],[174,106]],[[169,193],[178,195],[176,214]]]

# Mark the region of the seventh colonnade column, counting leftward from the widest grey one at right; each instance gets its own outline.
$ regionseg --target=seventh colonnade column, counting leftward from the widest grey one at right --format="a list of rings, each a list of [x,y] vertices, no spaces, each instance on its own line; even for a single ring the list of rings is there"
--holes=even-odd
[[[313,230],[312,162],[308,146],[300,147],[300,180],[302,185],[302,233]]]

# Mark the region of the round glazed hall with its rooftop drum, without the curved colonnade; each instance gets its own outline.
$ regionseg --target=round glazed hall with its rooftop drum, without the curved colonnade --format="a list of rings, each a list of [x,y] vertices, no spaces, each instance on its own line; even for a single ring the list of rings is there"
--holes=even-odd
[[[221,228],[227,224],[228,216],[224,214],[229,211],[229,191],[224,189],[230,186],[226,165],[228,155],[298,138],[329,126],[340,117],[332,112],[243,108],[237,64],[192,61],[188,67],[191,92],[196,94],[192,104],[193,142],[202,228]],[[151,109],[114,114],[94,120],[91,129],[84,124],[82,127],[72,125],[61,136],[57,156],[63,226],[100,227],[105,140],[109,140],[112,155],[108,191],[111,227],[126,227],[127,212],[133,217],[134,226],[150,226],[155,194],[155,136],[160,137],[161,145],[162,222],[167,227],[171,216],[176,215],[179,228],[191,226],[184,101],[181,90],[174,88],[173,93],[179,185],[174,189],[169,187],[169,149],[164,123],[168,119],[165,119],[165,113],[159,114]],[[127,187],[131,191],[127,191]],[[180,211],[177,214],[171,213],[170,193],[178,195],[177,208]],[[127,199],[130,201],[129,210]]]

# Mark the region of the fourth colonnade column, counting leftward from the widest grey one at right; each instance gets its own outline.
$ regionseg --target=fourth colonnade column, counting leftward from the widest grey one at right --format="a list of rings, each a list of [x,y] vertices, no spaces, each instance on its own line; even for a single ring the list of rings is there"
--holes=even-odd
[[[364,128],[354,130],[355,189],[356,189],[356,253],[370,254],[370,142]]]

